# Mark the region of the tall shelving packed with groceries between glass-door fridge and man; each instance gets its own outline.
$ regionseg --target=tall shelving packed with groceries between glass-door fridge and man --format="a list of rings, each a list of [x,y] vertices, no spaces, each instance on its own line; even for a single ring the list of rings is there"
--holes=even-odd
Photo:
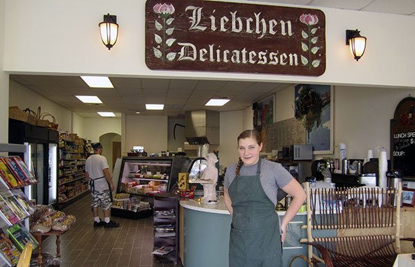
[[[89,149],[82,138],[59,138],[58,206],[63,208],[89,192],[85,160]]]

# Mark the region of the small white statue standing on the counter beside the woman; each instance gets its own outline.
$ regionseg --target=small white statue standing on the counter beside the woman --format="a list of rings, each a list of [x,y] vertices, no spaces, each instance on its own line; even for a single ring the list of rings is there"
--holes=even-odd
[[[218,200],[218,197],[216,196],[216,183],[218,181],[219,172],[214,163],[218,162],[218,158],[213,153],[209,153],[205,158],[208,165],[201,177],[201,180],[204,181],[202,201],[205,203],[216,203]]]

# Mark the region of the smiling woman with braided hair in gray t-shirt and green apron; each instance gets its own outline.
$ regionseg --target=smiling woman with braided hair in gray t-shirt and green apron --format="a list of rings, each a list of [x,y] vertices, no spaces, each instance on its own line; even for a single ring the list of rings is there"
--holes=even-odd
[[[261,160],[261,136],[246,130],[238,136],[239,162],[225,174],[225,205],[232,215],[230,267],[282,266],[282,243],[288,222],[306,199],[301,185],[279,163]],[[277,190],[293,196],[281,223]]]

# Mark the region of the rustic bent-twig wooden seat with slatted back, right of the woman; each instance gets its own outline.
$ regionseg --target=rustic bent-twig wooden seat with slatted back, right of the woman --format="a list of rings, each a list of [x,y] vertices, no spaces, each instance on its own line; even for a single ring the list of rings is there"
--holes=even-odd
[[[401,186],[327,189],[306,183],[307,239],[300,242],[309,245],[308,259],[327,267],[393,266],[400,241],[415,241],[400,237]],[[331,236],[322,237],[324,232]]]

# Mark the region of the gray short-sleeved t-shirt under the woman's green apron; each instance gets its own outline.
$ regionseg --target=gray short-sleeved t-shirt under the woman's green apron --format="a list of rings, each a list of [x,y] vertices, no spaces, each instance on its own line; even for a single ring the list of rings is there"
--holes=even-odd
[[[242,165],[239,175],[255,175],[257,173],[258,163],[252,166]],[[237,163],[234,163],[226,169],[225,181],[223,183],[225,188],[229,188],[234,180],[237,170]],[[281,164],[270,160],[261,160],[261,174],[259,175],[262,188],[268,198],[277,205],[277,192],[279,188],[286,186],[291,182],[293,176],[282,167]]]

